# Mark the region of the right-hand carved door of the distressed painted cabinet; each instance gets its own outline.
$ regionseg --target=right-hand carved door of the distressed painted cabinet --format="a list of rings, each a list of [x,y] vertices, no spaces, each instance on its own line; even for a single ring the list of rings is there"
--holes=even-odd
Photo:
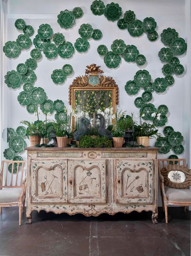
[[[115,160],[115,182],[117,203],[152,203],[152,160]]]

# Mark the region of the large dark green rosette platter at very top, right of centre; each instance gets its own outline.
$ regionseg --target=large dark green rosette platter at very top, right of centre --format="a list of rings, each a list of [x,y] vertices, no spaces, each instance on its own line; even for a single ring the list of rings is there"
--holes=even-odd
[[[114,22],[115,20],[118,20],[122,15],[122,8],[119,6],[119,4],[111,2],[111,4],[106,5],[104,9],[104,15],[108,20]]]

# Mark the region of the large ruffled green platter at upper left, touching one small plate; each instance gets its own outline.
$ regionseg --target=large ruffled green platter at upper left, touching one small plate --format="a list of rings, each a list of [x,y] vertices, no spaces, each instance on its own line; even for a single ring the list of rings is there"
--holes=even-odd
[[[72,28],[76,19],[73,12],[68,11],[67,9],[65,11],[61,11],[57,17],[57,22],[60,24],[61,28],[65,29]]]

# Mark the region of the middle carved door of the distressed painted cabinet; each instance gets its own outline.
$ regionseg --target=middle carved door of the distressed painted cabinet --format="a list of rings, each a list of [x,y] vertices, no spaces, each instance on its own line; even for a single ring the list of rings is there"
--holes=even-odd
[[[69,160],[68,200],[71,203],[106,202],[105,160]]]

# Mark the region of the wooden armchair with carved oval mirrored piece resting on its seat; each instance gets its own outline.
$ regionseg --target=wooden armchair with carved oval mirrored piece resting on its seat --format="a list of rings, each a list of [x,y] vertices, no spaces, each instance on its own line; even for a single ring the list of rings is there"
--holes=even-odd
[[[168,205],[191,205],[191,170],[186,166],[186,159],[158,159],[160,192],[166,223],[168,223]],[[164,187],[167,186],[167,187]]]

